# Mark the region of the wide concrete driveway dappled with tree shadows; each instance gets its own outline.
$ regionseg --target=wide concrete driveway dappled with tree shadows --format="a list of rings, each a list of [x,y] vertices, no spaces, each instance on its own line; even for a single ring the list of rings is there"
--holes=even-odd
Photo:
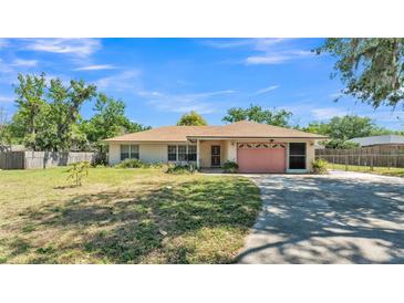
[[[265,207],[239,263],[404,263],[404,178],[250,175]]]

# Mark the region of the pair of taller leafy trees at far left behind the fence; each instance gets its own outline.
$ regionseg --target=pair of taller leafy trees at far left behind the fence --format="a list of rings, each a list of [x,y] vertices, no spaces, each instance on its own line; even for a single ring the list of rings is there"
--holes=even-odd
[[[60,79],[46,84],[45,74],[18,76],[18,111],[11,123],[14,137],[33,150],[69,150],[86,143],[76,126],[82,104],[95,95],[95,86]]]

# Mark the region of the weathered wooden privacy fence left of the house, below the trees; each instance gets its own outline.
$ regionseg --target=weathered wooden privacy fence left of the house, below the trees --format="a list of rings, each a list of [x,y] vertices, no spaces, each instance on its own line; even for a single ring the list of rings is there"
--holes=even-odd
[[[33,169],[68,166],[79,161],[93,163],[97,157],[97,153],[6,152],[0,153],[0,169]]]

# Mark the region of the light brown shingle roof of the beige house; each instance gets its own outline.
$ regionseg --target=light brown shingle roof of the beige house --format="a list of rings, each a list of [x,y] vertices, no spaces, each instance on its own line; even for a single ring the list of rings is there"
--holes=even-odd
[[[241,121],[224,126],[164,126],[105,142],[186,142],[188,138],[327,138],[292,128]]]

